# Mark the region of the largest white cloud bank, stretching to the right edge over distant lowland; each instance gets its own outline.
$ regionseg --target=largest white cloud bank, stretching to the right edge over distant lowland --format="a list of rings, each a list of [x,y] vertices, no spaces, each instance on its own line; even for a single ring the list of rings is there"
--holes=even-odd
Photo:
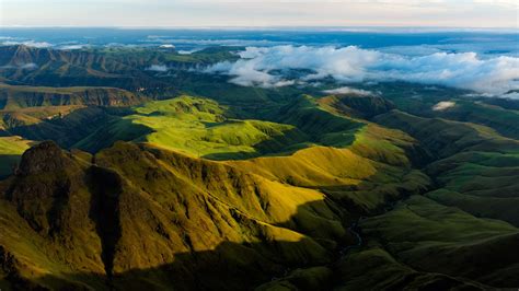
[[[410,56],[356,46],[247,47],[238,55],[241,58],[238,61],[220,62],[205,72],[231,75],[230,81],[239,85],[264,88],[332,78],[338,83],[407,81],[494,94],[519,89],[519,58],[510,56],[480,58],[475,53]],[[289,77],[293,71],[300,72],[299,80]]]

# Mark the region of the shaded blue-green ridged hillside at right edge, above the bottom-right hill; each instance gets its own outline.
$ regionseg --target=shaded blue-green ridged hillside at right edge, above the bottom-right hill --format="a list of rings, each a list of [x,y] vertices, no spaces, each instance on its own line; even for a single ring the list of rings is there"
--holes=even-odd
[[[515,214],[519,199],[519,141],[488,127],[399,112],[377,120],[407,130],[439,158],[426,168],[438,186],[427,194],[429,198],[477,217],[519,225]]]

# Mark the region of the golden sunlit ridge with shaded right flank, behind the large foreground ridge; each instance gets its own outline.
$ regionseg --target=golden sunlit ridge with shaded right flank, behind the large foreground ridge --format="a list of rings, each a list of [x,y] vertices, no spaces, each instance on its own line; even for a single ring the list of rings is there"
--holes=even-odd
[[[378,130],[374,125],[367,126],[343,149],[311,147],[288,156],[228,163],[269,179],[321,189],[353,212],[372,213],[389,200],[424,191],[429,184],[428,177],[412,168],[406,155],[405,142],[413,141],[402,132],[381,137]]]

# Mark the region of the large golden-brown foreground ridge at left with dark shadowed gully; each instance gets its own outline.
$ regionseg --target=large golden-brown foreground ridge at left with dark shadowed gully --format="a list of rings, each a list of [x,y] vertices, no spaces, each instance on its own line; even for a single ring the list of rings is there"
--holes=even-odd
[[[130,143],[93,161],[43,142],[0,184],[7,286],[242,289],[348,240],[314,190]]]

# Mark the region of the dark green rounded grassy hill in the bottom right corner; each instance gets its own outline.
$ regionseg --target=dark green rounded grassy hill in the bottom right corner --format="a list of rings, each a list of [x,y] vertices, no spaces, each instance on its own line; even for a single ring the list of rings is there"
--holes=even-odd
[[[400,261],[430,272],[511,287],[500,268],[514,261],[519,230],[498,220],[474,218],[458,208],[413,196],[393,211],[361,222],[362,233],[384,243]],[[434,254],[434,255],[432,255]],[[485,278],[481,278],[485,276]]]

